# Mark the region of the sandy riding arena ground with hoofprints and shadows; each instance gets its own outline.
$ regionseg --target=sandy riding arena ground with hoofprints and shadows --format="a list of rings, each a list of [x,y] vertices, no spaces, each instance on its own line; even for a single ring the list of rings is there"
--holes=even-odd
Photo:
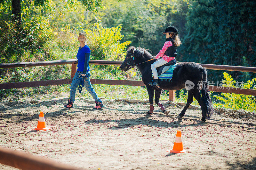
[[[147,115],[147,100],[103,99],[104,109],[95,111],[89,98],[77,98],[73,109],[64,110],[67,100],[2,98],[0,146],[84,169],[256,169],[255,113],[217,109],[201,123],[197,106],[177,117],[184,103],[161,101],[170,110],[166,116],[156,104]],[[32,130],[40,111],[52,130]],[[177,130],[187,153],[166,152]]]

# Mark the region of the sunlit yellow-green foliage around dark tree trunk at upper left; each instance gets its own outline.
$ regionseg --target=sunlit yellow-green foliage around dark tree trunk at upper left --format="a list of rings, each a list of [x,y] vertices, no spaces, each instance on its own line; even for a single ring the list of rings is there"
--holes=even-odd
[[[49,18],[36,14],[34,2],[21,1],[21,25],[17,27],[10,17],[11,1],[0,4],[0,55],[1,62],[24,61],[24,53],[40,51],[40,46],[52,35]]]

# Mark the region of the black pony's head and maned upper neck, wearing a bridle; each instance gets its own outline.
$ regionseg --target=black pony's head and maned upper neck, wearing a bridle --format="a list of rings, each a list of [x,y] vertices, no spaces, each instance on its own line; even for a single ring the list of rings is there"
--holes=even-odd
[[[147,51],[148,49],[144,49],[141,47],[135,48],[131,46],[127,49],[126,57],[124,62],[120,66],[122,71],[127,71],[132,68],[137,63],[140,63],[145,58],[152,58],[153,56]]]

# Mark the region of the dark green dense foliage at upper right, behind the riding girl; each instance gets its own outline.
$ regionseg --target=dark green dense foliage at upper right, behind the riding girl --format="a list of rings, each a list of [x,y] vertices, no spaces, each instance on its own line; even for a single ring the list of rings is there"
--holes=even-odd
[[[190,2],[180,50],[183,61],[240,66],[246,56],[247,66],[256,65],[255,1]],[[234,74],[243,80],[243,74]],[[211,80],[219,76],[213,73]]]

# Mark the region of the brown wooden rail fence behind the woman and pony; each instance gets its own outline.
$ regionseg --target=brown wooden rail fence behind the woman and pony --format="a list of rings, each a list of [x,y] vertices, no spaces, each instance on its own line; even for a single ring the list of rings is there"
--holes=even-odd
[[[115,65],[120,66],[123,61],[108,61],[108,60],[90,60],[90,64],[96,65]],[[178,62],[182,63],[182,62]],[[17,82],[17,83],[2,83],[0,89],[13,89],[24,87],[38,87],[49,85],[60,85],[71,81],[76,73],[77,59],[72,60],[54,60],[54,61],[38,61],[38,62],[20,62],[20,63],[0,63],[0,68],[13,68],[13,67],[36,67],[36,66],[53,66],[53,65],[66,65],[71,64],[71,79],[61,80],[46,80],[46,81],[30,81],[30,82]],[[243,66],[226,66],[226,65],[213,65],[213,64],[199,64],[206,69],[212,70],[225,70],[225,71],[241,71],[256,73],[256,67],[243,67]],[[92,84],[109,84],[109,85],[128,85],[128,86],[145,86],[142,81],[134,80],[106,80],[106,79],[90,79]],[[68,84],[71,84],[69,82]],[[240,89],[223,86],[208,86],[209,91],[236,93],[244,95],[256,96],[255,89]],[[175,91],[169,91],[169,100],[174,101]]]

